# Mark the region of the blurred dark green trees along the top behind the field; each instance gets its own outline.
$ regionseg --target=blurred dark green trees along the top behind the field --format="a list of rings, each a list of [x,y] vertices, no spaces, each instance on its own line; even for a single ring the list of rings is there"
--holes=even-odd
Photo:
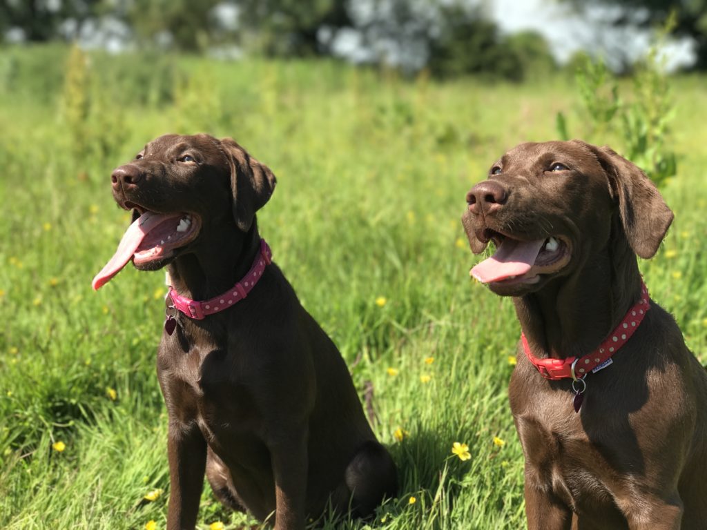
[[[580,0],[565,0],[582,8]],[[600,0],[626,7],[615,23],[650,25],[677,9],[707,66],[707,0]],[[5,40],[77,40],[122,28],[141,47],[237,49],[265,57],[346,57],[440,78],[513,81],[556,64],[537,33],[503,35],[480,2],[448,0],[0,0]],[[641,7],[644,16],[630,16]]]

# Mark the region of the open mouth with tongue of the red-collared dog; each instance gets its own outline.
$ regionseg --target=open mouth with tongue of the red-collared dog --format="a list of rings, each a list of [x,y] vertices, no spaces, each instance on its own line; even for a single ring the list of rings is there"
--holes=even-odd
[[[571,248],[564,237],[521,241],[493,232],[496,252],[469,272],[481,283],[537,283],[541,274],[552,274],[570,261]]]

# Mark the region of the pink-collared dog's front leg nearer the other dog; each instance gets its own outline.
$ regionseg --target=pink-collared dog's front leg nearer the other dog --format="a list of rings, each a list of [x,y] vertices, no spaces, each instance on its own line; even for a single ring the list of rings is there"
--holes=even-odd
[[[275,478],[275,530],[305,527],[307,441],[307,428],[298,426],[284,430],[268,444]]]

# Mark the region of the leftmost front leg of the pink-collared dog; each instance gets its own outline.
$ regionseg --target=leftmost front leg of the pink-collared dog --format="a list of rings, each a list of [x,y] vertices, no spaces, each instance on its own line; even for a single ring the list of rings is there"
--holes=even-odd
[[[168,530],[193,530],[204,487],[206,441],[196,423],[170,423],[167,442],[170,462]]]

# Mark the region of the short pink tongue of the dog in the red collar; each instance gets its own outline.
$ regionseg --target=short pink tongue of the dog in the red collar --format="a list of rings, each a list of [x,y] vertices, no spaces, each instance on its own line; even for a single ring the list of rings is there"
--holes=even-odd
[[[489,259],[474,266],[471,273],[481,283],[522,276],[530,271],[545,240],[518,241],[508,237]]]

